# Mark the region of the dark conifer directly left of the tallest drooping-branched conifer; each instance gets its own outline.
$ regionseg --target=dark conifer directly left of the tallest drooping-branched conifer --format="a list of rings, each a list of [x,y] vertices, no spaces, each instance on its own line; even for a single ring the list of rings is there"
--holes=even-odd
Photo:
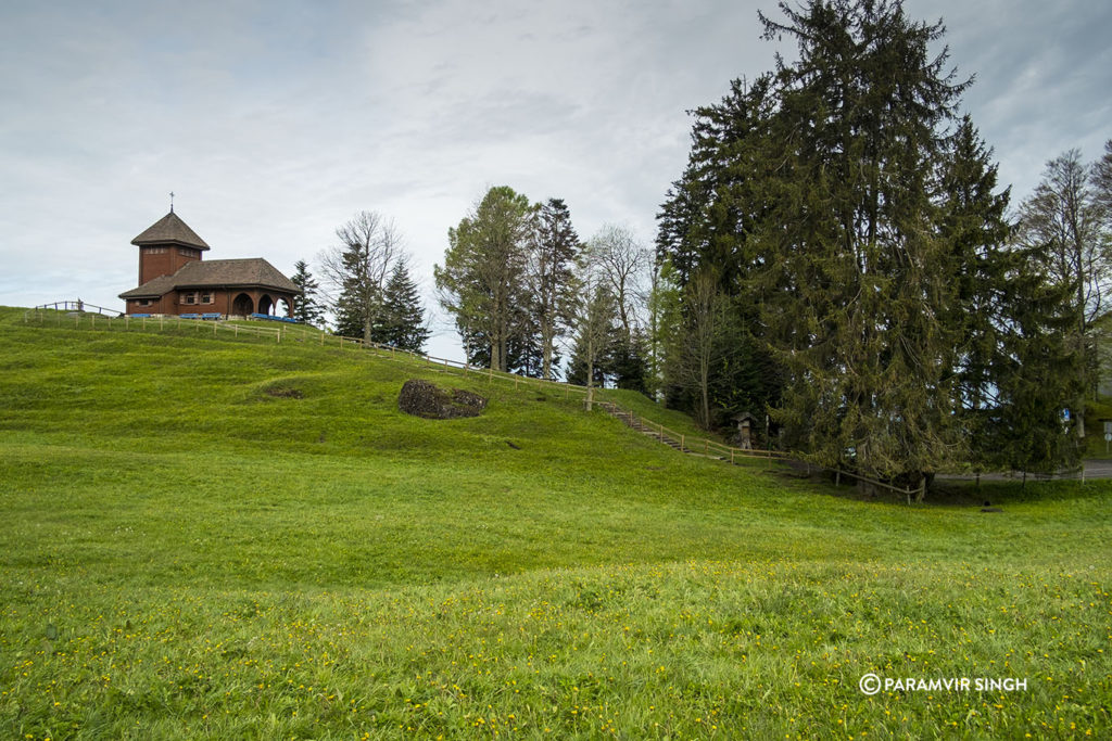
[[[674,288],[682,290],[707,268],[728,299],[722,348],[714,353],[708,379],[717,418],[776,405],[784,382],[767,350],[761,311],[765,293],[785,287],[756,279],[767,263],[753,239],[767,212],[758,186],[767,170],[764,141],[775,108],[773,82],[770,74],[752,84],[734,80],[721,102],[694,111],[687,168],[657,217],[657,263],[667,262]],[[679,347],[673,344],[673,357],[665,353],[658,362],[665,398],[702,417],[702,393],[689,384],[684,359],[675,357]]]

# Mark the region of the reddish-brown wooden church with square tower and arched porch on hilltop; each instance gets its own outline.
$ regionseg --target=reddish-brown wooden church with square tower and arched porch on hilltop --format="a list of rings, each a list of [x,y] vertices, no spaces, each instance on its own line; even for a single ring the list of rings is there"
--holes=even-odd
[[[131,240],[139,287],[120,293],[129,314],[294,316],[301,289],[262,258],[201,260],[209,246],[173,212]],[[280,306],[284,304],[284,306]]]

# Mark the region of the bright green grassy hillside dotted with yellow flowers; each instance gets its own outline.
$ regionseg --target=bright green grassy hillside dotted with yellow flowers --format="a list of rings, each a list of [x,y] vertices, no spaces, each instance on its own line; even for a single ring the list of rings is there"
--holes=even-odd
[[[1112,733],[1109,483],[861,502],[558,389],[22,317],[0,309],[0,737]],[[405,415],[409,378],[489,405]]]

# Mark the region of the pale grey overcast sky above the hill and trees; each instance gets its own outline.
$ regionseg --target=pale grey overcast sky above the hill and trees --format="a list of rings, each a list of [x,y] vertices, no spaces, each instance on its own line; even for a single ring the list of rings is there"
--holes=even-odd
[[[1013,203],[1112,138],[1112,3],[906,0],[976,74],[965,108]],[[490,186],[565,199],[580,237],[646,243],[691,119],[786,46],[751,0],[0,6],[0,304],[122,309],[131,239],[169,210],[207,258],[286,274],[359,210],[391,218],[431,300],[447,230]]]

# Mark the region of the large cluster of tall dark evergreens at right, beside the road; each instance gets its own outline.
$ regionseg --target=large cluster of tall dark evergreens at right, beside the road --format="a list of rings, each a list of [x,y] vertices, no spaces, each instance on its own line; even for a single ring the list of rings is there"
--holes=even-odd
[[[706,427],[767,414],[764,444],[909,485],[1073,463],[1106,313],[1112,142],[1093,164],[1050,162],[1013,213],[960,114],[971,80],[941,22],[885,0],[780,10],[759,14],[764,37],[794,40],[796,61],[694,111],[658,214],[667,401]]]

